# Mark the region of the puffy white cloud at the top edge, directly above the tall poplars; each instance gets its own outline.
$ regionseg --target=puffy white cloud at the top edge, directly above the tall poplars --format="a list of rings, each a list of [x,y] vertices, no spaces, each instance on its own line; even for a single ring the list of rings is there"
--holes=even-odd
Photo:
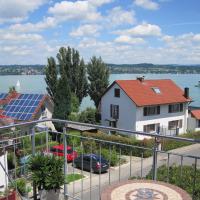
[[[101,18],[101,14],[97,11],[97,7],[110,0],[85,0],[85,1],[61,1],[49,8],[49,13],[53,14],[59,21],[67,20],[87,20],[96,21]]]

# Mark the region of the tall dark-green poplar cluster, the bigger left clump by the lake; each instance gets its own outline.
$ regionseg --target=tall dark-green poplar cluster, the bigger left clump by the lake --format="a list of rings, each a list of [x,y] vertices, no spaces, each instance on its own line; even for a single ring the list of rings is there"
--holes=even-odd
[[[57,60],[58,67],[53,57],[48,58],[45,70],[47,92],[54,102],[53,117],[68,119],[71,111],[78,112],[87,95],[86,67],[79,52],[70,47],[61,47]]]

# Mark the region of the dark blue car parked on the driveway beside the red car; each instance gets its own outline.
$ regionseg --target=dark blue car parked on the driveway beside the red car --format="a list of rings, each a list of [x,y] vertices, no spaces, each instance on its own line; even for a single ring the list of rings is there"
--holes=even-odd
[[[108,161],[96,154],[83,154],[74,160],[73,165],[74,167],[83,167],[84,170],[96,173],[106,172],[109,168]]]

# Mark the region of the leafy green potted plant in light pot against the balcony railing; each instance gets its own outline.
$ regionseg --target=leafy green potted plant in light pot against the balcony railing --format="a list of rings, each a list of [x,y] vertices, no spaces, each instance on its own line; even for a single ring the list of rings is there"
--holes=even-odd
[[[31,179],[38,187],[40,199],[59,199],[60,188],[64,184],[64,161],[60,157],[36,155],[29,161]]]

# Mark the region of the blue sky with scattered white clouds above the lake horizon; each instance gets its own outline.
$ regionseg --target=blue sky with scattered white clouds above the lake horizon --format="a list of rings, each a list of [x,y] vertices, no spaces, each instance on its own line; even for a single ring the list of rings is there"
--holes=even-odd
[[[0,0],[0,65],[73,47],[115,64],[200,64],[200,0]]]

